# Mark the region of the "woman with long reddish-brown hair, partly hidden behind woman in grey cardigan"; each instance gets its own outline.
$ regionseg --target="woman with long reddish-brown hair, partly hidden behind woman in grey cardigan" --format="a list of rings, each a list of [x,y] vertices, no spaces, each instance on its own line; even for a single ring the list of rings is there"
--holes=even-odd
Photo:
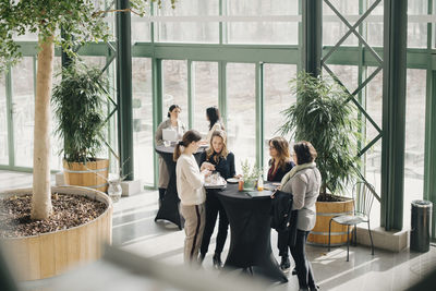
[[[281,136],[269,140],[269,170],[268,181],[280,182],[283,175],[289,172],[294,163],[291,161],[289,154],[289,144],[287,140]],[[279,248],[279,256],[281,257],[280,269],[284,272],[289,271],[291,263],[289,262],[288,241],[289,231],[278,231],[277,247]]]

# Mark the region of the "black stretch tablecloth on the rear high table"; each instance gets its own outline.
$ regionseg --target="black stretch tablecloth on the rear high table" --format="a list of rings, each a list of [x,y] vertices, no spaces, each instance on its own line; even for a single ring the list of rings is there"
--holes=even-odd
[[[165,163],[167,165],[168,174],[170,180],[168,182],[168,187],[165,193],[165,197],[160,204],[160,208],[155,217],[155,221],[158,219],[165,219],[175,223],[179,229],[183,229],[184,219],[179,213],[179,196],[177,193],[177,184],[175,184],[175,162],[172,159],[172,155],[174,153],[173,146],[156,146],[156,153],[158,153]],[[199,156],[204,151],[204,148],[198,148],[198,151],[194,154],[197,162],[199,161]]]

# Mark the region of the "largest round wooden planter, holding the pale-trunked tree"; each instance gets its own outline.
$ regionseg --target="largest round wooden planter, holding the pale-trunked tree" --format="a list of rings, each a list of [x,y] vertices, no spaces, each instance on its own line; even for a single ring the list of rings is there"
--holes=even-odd
[[[80,186],[51,187],[52,193],[87,196],[108,208],[97,219],[83,226],[33,237],[1,239],[1,247],[19,280],[38,280],[77,264],[101,257],[104,245],[112,241],[112,202],[105,194]],[[1,197],[31,194],[32,189],[11,190]]]

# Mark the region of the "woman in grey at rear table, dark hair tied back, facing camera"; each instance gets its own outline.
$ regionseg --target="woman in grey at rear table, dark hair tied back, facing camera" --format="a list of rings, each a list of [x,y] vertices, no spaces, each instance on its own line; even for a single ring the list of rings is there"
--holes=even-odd
[[[186,131],[186,126],[184,123],[179,120],[179,114],[182,110],[180,109],[180,106],[178,105],[171,105],[170,108],[168,109],[168,119],[162,121],[159,126],[156,130],[155,134],[155,142],[156,145],[162,145],[164,140],[162,140],[162,130],[165,129],[172,129],[178,133],[178,138],[181,138],[183,136],[183,133]],[[168,182],[170,180],[167,165],[165,163],[162,157],[159,156],[159,207],[160,204],[164,199],[165,192],[167,191]]]

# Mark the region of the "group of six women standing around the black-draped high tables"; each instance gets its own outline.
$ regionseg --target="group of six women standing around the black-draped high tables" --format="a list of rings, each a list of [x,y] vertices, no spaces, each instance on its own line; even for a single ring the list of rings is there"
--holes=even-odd
[[[164,121],[156,132],[156,144],[162,144],[162,130],[172,128],[181,136],[175,145],[173,159],[177,162],[177,190],[180,198],[180,213],[185,219],[184,260],[189,264],[202,264],[205,258],[210,237],[217,218],[219,227],[213,264],[222,267],[221,252],[228,235],[229,221],[226,211],[216,196],[216,191],[205,190],[205,178],[213,171],[218,171],[225,179],[238,177],[234,167],[234,155],[227,147],[227,134],[220,120],[219,110],[209,107],[206,118],[209,131],[203,140],[194,130],[185,131],[185,125],[179,120],[181,109],[172,105],[168,111],[168,120]],[[199,166],[194,157],[202,144],[208,148],[202,153]],[[305,254],[305,244],[310,231],[315,226],[315,202],[320,187],[320,173],[316,168],[316,150],[308,142],[293,145],[291,159],[288,142],[283,137],[269,141],[269,170],[267,180],[279,182],[280,190],[293,195],[292,209],[298,210],[296,240],[290,244],[290,232],[278,232],[278,248],[281,256],[280,268],[289,271],[291,251],[301,289],[316,290],[312,266]],[[159,158],[159,202],[164,199],[168,185],[168,170]]]

